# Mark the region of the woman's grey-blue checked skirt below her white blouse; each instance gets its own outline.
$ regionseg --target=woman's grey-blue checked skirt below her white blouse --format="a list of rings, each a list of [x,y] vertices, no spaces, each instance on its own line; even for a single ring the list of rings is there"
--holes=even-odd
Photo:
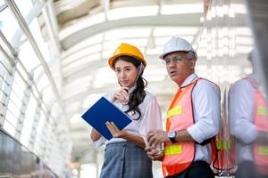
[[[153,178],[152,160],[133,142],[107,144],[100,178]]]

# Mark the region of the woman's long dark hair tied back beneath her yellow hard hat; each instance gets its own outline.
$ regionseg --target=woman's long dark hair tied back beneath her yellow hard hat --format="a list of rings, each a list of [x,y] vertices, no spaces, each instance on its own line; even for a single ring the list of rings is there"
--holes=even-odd
[[[116,61],[119,61],[119,60],[131,62],[137,69],[138,69],[138,66],[140,66],[140,62],[141,62],[141,61],[138,61],[134,57],[123,55],[113,61],[113,69],[115,67]],[[128,112],[130,112],[131,110],[133,110],[134,114],[138,113],[138,118],[134,118],[134,120],[138,120],[140,118],[141,113],[140,113],[140,110],[138,109],[138,105],[144,100],[146,96],[146,92],[144,89],[147,86],[147,80],[142,77],[142,74],[143,74],[143,71],[138,76],[138,79],[136,82],[137,87],[132,93],[130,93],[130,101],[128,103],[129,109],[125,111],[126,114],[128,114]]]

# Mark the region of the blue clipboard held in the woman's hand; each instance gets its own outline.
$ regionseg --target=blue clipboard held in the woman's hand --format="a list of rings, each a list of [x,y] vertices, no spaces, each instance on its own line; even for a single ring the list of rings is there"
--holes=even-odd
[[[114,106],[113,103],[106,100],[105,97],[101,97],[101,99],[96,101],[96,103],[82,115],[82,118],[107,140],[111,140],[113,135],[106,127],[105,122],[113,122],[120,130],[132,122],[128,115]]]

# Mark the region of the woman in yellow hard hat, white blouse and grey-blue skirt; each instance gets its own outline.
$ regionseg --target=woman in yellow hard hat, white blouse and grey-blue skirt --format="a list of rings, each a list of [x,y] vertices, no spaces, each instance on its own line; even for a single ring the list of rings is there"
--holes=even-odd
[[[123,130],[106,123],[113,139],[105,141],[105,163],[100,177],[153,177],[152,161],[144,150],[146,135],[150,130],[162,129],[162,121],[155,96],[145,91],[147,81],[142,74],[147,62],[137,47],[121,44],[108,63],[115,71],[121,89],[107,94],[106,99],[128,114],[132,122]],[[103,143],[104,137],[95,129],[90,137],[98,147]]]

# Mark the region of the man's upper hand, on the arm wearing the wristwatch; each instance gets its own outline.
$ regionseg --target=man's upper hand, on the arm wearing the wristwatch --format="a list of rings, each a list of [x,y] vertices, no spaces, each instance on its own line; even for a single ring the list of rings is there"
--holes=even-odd
[[[163,143],[163,142],[170,142],[170,139],[168,138],[168,135],[166,132],[162,130],[155,130],[155,131],[150,131],[147,134],[147,142],[153,149],[155,149],[157,144]]]

